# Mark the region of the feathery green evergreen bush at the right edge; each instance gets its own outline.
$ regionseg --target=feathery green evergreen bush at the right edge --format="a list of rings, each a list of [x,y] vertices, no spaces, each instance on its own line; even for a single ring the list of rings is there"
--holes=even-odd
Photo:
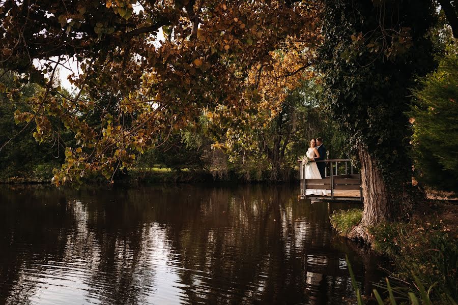
[[[444,57],[420,82],[411,113],[418,176],[429,186],[458,192],[458,54]]]

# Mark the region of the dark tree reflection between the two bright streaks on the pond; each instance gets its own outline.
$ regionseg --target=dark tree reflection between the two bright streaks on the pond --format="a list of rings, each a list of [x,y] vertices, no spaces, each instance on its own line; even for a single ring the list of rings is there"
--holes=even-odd
[[[144,302],[154,284],[154,270],[147,268],[151,240],[145,238],[150,217],[145,200],[131,200],[128,193],[109,190],[99,190],[95,196],[82,193],[78,200],[83,202],[86,218],[80,227],[87,232],[75,239],[91,268],[88,300]]]

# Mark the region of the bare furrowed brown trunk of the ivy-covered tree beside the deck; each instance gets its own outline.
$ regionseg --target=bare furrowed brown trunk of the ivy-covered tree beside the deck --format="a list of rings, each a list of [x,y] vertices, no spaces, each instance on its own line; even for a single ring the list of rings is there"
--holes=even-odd
[[[361,187],[364,198],[363,216],[361,223],[348,234],[352,239],[363,239],[371,242],[367,227],[378,225],[393,219],[391,196],[382,178],[376,160],[370,156],[362,144],[358,145],[361,162]]]

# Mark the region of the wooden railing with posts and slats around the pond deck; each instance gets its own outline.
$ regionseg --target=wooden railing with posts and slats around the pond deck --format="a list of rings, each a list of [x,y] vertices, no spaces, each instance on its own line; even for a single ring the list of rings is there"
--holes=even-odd
[[[351,161],[350,159],[311,161],[326,163],[325,177],[323,179],[305,179],[305,169],[308,165],[303,163],[302,160],[298,160],[301,176],[301,194],[299,196],[305,198],[306,190],[330,190],[330,199],[334,200],[335,190],[359,190],[359,200],[362,201],[361,176],[357,173]],[[342,169],[343,173],[341,174],[338,173],[339,163],[345,163],[345,170]],[[330,175],[328,175],[328,168]]]

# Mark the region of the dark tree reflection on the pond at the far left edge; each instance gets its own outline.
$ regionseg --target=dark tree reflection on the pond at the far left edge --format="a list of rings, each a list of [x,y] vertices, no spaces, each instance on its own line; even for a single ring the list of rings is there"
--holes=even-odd
[[[66,232],[74,226],[58,190],[0,187],[0,303],[30,302],[49,262],[64,257]]]

